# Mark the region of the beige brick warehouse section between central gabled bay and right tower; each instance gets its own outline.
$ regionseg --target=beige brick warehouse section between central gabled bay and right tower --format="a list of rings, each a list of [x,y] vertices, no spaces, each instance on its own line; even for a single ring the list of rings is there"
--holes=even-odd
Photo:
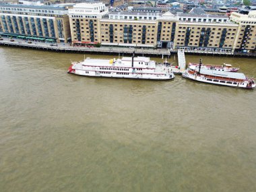
[[[211,49],[232,52],[238,24],[225,15],[180,14],[174,44],[177,48]]]

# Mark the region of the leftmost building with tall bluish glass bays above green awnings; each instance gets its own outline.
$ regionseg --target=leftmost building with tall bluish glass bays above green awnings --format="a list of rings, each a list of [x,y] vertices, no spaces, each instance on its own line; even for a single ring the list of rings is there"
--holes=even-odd
[[[0,4],[0,34],[68,42],[71,34],[67,12],[63,6]]]

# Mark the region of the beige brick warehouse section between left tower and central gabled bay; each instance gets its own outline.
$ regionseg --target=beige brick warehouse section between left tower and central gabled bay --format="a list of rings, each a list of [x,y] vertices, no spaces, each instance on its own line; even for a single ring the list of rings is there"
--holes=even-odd
[[[152,13],[109,13],[108,18],[100,20],[101,43],[119,46],[156,45],[157,22],[159,14]],[[142,19],[143,18],[143,19]]]

